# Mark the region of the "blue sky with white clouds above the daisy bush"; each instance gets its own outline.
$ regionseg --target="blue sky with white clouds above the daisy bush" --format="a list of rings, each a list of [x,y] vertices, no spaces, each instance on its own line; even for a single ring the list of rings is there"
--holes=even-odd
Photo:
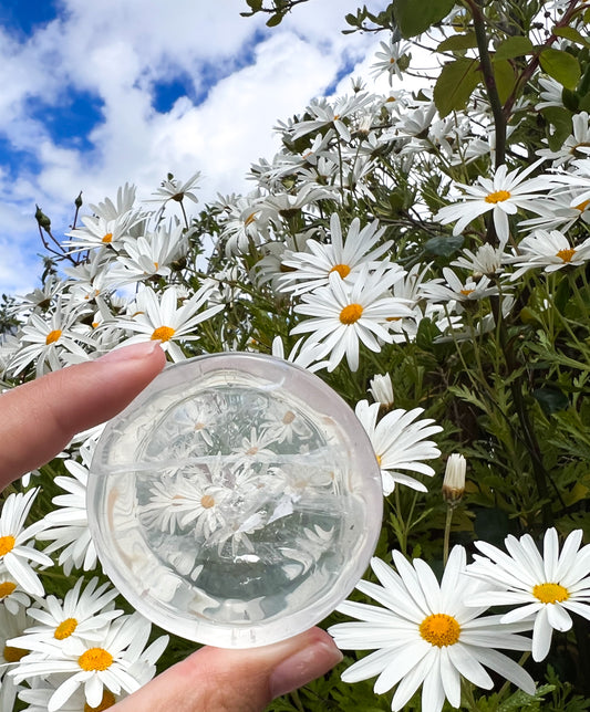
[[[147,198],[196,170],[204,201],[250,189],[277,119],[369,77],[385,38],[342,35],[358,4],[310,0],[271,31],[244,0],[0,0],[0,293],[39,283],[35,203],[61,237],[81,190]]]

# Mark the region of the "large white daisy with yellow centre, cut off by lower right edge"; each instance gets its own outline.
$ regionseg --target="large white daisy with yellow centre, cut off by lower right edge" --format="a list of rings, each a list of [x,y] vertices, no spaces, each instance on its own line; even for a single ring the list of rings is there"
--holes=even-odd
[[[508,554],[488,544],[475,542],[484,556],[475,556],[467,567],[469,574],[483,578],[488,587],[472,597],[469,605],[517,606],[501,617],[503,622],[531,621],[532,658],[544,660],[551,646],[553,630],[569,630],[568,611],[590,620],[590,544],[580,548],[581,530],[575,530],[559,542],[553,527],[547,530],[542,556],[532,537],[507,536]],[[501,586],[504,590],[498,590]]]

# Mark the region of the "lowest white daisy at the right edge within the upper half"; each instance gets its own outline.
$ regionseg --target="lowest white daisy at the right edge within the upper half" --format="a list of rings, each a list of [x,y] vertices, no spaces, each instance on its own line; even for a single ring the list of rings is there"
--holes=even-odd
[[[571,247],[568,238],[559,230],[536,230],[532,235],[518,243],[518,255],[514,263],[518,268],[510,280],[517,280],[528,270],[544,268],[556,272],[567,266],[579,266],[590,259],[590,238]]]

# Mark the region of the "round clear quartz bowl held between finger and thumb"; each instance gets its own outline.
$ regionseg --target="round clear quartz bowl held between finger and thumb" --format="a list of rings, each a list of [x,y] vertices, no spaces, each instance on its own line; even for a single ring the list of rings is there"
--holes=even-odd
[[[145,617],[226,648],[321,621],[376,545],[376,458],[313,374],[232,353],[170,365],[101,436],[87,489],[105,573]]]

